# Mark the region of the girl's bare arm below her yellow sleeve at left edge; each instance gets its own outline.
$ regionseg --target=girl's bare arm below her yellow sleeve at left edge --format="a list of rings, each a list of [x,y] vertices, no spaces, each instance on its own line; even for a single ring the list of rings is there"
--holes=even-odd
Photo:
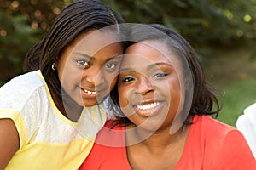
[[[0,119],[0,169],[7,167],[10,159],[20,147],[20,139],[15,123],[11,119]]]

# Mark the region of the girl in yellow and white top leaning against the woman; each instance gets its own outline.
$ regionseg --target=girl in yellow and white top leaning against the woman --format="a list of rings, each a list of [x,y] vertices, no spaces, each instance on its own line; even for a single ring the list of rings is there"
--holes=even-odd
[[[96,0],[71,3],[0,88],[0,169],[77,169],[111,114],[122,19]]]

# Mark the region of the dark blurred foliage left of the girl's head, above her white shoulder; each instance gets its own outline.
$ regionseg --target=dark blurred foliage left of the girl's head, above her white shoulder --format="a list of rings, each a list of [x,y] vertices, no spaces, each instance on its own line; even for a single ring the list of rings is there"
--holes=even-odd
[[[0,1],[0,84],[19,74],[22,62],[68,1]]]

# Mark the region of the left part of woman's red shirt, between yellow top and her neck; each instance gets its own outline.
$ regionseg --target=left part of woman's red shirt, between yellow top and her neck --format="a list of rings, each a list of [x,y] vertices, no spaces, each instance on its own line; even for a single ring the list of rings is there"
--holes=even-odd
[[[106,122],[80,170],[131,169],[126,157],[125,127],[114,124],[114,120]]]

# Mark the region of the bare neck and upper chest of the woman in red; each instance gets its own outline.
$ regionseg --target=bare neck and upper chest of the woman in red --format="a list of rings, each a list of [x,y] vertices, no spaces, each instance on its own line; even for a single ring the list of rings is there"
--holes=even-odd
[[[174,134],[170,134],[170,128],[151,134],[131,128],[126,128],[125,138],[132,169],[172,169],[177,165],[189,135],[189,125],[183,125]]]

